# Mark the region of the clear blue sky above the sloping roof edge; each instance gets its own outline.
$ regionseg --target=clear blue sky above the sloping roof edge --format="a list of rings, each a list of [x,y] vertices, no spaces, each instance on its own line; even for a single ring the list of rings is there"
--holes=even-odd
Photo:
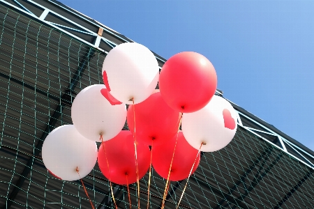
[[[165,59],[203,54],[225,98],[314,150],[314,1],[60,1]]]

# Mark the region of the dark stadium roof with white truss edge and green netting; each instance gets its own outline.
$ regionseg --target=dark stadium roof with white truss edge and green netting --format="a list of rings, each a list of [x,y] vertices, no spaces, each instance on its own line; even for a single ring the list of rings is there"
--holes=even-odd
[[[102,82],[107,52],[132,40],[54,0],[0,0],[0,23],[0,208],[91,208],[80,181],[51,176],[40,150],[51,130],[71,123],[75,95]],[[314,152],[232,105],[237,134],[202,153],[180,208],[314,208]],[[97,165],[84,183],[96,208],[113,208]],[[148,175],[140,183],[145,208]],[[185,183],[172,182],[165,208],[175,208]],[[126,187],[113,187],[119,208],[129,208]],[[153,172],[151,208],[160,208],[164,187]]]

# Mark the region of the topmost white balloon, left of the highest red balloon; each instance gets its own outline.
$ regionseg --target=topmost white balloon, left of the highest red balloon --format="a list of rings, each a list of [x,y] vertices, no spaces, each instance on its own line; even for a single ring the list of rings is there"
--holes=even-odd
[[[126,42],[110,50],[103,62],[110,94],[126,104],[146,100],[157,86],[159,68],[154,54],[136,42]]]

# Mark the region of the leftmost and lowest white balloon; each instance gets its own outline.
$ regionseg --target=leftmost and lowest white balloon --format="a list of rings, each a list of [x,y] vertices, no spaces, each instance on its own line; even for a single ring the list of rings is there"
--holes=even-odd
[[[97,146],[95,141],[79,134],[74,125],[62,125],[46,137],[42,157],[45,167],[55,176],[62,180],[78,180],[94,168]]]

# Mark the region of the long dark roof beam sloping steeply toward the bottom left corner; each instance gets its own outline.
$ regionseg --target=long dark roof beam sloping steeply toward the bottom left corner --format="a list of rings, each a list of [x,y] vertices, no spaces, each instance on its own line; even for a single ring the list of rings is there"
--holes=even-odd
[[[88,62],[91,60],[91,58],[94,56],[96,50],[94,48],[89,48],[86,54],[84,54],[82,61],[80,62],[79,68],[77,68],[75,75],[70,80],[70,84],[68,85],[68,88],[63,93],[63,95],[60,98],[60,102],[57,106],[57,108],[54,110],[54,114],[49,119],[49,122],[45,128],[45,131],[40,137],[40,140],[38,141],[38,144],[36,145],[36,148],[34,148],[33,155],[38,156],[41,148],[43,146],[43,141],[47,137],[47,135],[54,129],[54,125],[56,125],[59,116],[61,116],[63,108],[64,108],[64,101],[67,101],[67,97],[69,96],[68,93],[72,93],[75,86],[77,85],[77,82],[79,81],[80,77],[82,77],[82,73],[84,72],[85,68],[87,67]],[[72,101],[68,101],[72,102]],[[31,167],[33,165],[33,161],[36,160],[36,157],[31,157],[29,161],[27,162],[27,165],[24,167],[24,170],[22,171],[20,178],[17,180],[17,183],[15,184],[15,187],[13,191],[11,192],[9,198],[6,201],[6,208],[10,208],[12,206],[13,201],[15,200],[15,197],[17,196],[17,193],[20,192],[20,189],[22,188],[22,185],[24,183],[25,178],[27,178],[29,171],[31,171]]]

